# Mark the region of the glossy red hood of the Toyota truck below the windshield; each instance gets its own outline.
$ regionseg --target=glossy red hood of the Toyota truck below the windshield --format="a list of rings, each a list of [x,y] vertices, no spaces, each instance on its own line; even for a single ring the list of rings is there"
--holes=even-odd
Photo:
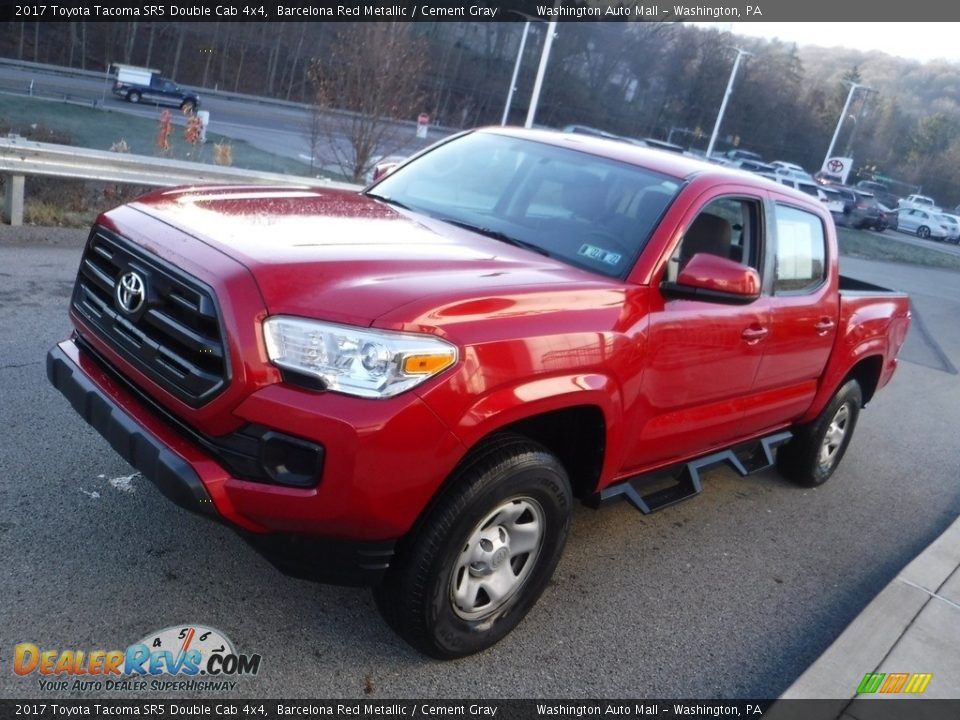
[[[133,204],[243,263],[270,314],[371,325],[425,305],[533,289],[607,291],[611,281],[354,191],[204,186]]]

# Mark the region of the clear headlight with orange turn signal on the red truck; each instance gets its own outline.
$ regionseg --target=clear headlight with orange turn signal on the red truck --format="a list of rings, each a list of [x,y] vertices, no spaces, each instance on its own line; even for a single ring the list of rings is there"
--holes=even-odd
[[[318,378],[328,390],[384,398],[405,392],[457,361],[433,335],[356,328],[287,315],[263,323],[270,360]]]

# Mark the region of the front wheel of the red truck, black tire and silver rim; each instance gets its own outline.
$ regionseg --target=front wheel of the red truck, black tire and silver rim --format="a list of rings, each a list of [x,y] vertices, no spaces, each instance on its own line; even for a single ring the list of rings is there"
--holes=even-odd
[[[520,436],[494,436],[454,471],[401,543],[374,588],[381,614],[431,657],[485,650],[517,626],[547,586],[572,503],[567,473],[553,454]]]

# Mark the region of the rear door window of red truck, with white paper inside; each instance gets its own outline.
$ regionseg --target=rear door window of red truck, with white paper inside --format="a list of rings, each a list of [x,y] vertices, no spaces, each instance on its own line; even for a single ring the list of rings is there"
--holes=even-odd
[[[775,292],[802,292],[826,277],[826,237],[823,223],[813,213],[776,206],[777,276]]]

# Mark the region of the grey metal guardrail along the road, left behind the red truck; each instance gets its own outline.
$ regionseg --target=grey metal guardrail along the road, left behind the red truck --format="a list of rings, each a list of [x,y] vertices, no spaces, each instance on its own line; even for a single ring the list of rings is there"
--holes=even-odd
[[[23,224],[27,175],[78,178],[155,187],[210,183],[255,183],[358,189],[357,185],[242,168],[0,138],[0,175],[5,180],[4,219]]]

